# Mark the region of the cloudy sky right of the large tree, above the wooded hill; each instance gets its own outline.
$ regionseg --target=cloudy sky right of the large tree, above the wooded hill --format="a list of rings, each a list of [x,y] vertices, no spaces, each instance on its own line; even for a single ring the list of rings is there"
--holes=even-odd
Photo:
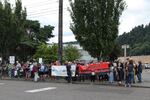
[[[150,0],[126,0],[127,9],[120,19],[119,34],[129,32],[135,26],[148,24],[150,19]]]

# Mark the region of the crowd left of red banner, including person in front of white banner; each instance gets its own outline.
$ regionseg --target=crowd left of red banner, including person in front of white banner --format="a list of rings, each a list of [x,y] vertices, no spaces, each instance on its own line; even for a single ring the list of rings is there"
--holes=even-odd
[[[67,78],[65,79],[68,83],[72,80],[71,65],[72,62],[65,62],[67,70]],[[74,63],[75,64],[75,63]],[[60,77],[52,76],[52,66],[60,66],[59,61],[52,61],[50,63],[37,63],[36,61],[32,62],[19,62],[16,61],[14,64],[9,62],[0,61],[0,77],[1,79],[25,79],[37,81],[45,81],[46,79],[57,80]]]

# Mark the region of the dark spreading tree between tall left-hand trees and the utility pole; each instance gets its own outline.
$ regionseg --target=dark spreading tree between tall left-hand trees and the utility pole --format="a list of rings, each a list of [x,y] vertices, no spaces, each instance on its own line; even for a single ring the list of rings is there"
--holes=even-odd
[[[27,59],[25,55],[32,57],[36,52],[37,46],[41,45],[41,43],[46,43],[51,37],[54,37],[52,35],[54,27],[50,25],[41,27],[38,21],[27,20],[25,29],[27,31],[21,37],[18,45],[20,47],[19,55],[24,59]]]

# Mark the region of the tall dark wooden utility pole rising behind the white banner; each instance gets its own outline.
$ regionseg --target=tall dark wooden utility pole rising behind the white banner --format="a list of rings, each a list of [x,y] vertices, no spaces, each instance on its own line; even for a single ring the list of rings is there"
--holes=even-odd
[[[59,0],[59,23],[58,23],[58,60],[62,64],[63,51],[63,0]]]

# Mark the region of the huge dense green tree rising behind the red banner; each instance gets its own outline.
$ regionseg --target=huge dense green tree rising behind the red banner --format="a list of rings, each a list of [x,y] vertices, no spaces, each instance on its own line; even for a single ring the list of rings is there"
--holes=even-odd
[[[113,50],[124,0],[69,0],[71,30],[79,44],[98,60]],[[73,2],[74,1],[74,2]]]

